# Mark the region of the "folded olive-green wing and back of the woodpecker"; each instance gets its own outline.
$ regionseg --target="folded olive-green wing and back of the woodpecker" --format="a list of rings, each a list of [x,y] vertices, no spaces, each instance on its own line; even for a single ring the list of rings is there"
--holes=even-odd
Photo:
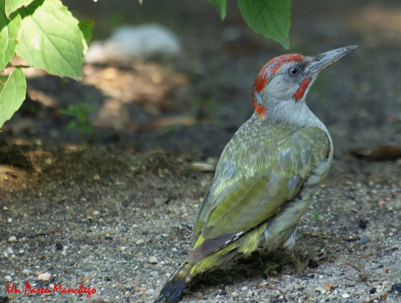
[[[263,140],[252,133],[234,136],[227,145],[199,211],[187,261],[203,259],[273,216],[328,157],[330,142],[318,127],[271,133]]]

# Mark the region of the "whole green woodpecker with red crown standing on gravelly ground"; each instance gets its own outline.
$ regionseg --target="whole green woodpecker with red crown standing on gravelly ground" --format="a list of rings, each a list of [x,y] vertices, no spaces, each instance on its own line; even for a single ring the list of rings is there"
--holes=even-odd
[[[255,113],[221,154],[194,229],[193,248],[155,302],[178,299],[196,277],[259,246],[291,249],[298,222],[327,176],[333,143],[306,95],[320,71],[352,52],[282,55],[252,88]]]

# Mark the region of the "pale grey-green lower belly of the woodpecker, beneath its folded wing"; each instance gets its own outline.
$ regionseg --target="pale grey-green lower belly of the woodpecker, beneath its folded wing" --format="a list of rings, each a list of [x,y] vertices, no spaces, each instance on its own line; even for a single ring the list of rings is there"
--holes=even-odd
[[[287,202],[282,210],[268,221],[261,236],[261,245],[269,251],[280,246],[292,248],[295,244],[295,228],[311,201],[312,199]]]

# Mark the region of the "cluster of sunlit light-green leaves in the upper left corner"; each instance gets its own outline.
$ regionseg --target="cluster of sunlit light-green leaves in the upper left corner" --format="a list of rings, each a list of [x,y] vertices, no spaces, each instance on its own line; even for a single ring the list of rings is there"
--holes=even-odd
[[[79,22],[59,0],[0,0],[0,128],[25,99],[21,68],[35,67],[59,77],[82,79],[82,58],[93,20]],[[28,66],[13,66],[14,55]]]

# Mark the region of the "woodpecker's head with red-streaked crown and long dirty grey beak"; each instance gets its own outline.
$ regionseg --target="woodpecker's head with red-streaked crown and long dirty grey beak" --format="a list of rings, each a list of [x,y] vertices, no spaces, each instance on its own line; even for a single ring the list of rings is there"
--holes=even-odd
[[[282,101],[304,103],[320,71],[357,47],[346,46],[310,57],[288,54],[271,59],[263,65],[252,87],[252,103],[257,117],[263,119],[269,107]]]

